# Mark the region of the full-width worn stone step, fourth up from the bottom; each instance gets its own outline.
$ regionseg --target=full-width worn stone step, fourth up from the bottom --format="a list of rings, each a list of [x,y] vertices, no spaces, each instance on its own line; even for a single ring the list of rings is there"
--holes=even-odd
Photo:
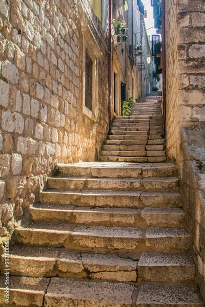
[[[29,208],[31,221],[114,227],[184,228],[181,208],[91,208],[36,204]]]

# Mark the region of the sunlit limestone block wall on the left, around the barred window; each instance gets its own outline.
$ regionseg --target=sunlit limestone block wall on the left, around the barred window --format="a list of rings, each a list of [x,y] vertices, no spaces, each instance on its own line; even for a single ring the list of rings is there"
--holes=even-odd
[[[93,21],[86,11],[90,7],[83,0],[0,3],[0,213],[5,227],[37,200],[56,162],[94,160],[107,133],[107,40],[97,18]],[[95,119],[83,113],[83,25],[101,52]],[[0,235],[5,235],[2,224]]]

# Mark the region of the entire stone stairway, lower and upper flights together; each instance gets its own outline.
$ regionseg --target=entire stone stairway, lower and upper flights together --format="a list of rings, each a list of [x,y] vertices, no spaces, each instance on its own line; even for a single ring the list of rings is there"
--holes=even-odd
[[[137,103],[104,145],[101,160],[141,163],[57,166],[15,229],[1,306],[203,307],[160,112],[152,98]]]

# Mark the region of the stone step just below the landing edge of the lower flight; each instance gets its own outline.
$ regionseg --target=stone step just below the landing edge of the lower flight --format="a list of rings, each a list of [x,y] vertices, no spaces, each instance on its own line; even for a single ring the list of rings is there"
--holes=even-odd
[[[177,177],[159,178],[48,178],[48,189],[179,191]]]

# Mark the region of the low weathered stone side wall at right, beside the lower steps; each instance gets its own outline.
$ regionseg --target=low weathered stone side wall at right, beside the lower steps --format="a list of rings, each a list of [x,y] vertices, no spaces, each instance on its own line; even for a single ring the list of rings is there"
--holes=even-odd
[[[192,254],[205,299],[205,124],[181,129],[181,193],[187,227],[193,238]]]

